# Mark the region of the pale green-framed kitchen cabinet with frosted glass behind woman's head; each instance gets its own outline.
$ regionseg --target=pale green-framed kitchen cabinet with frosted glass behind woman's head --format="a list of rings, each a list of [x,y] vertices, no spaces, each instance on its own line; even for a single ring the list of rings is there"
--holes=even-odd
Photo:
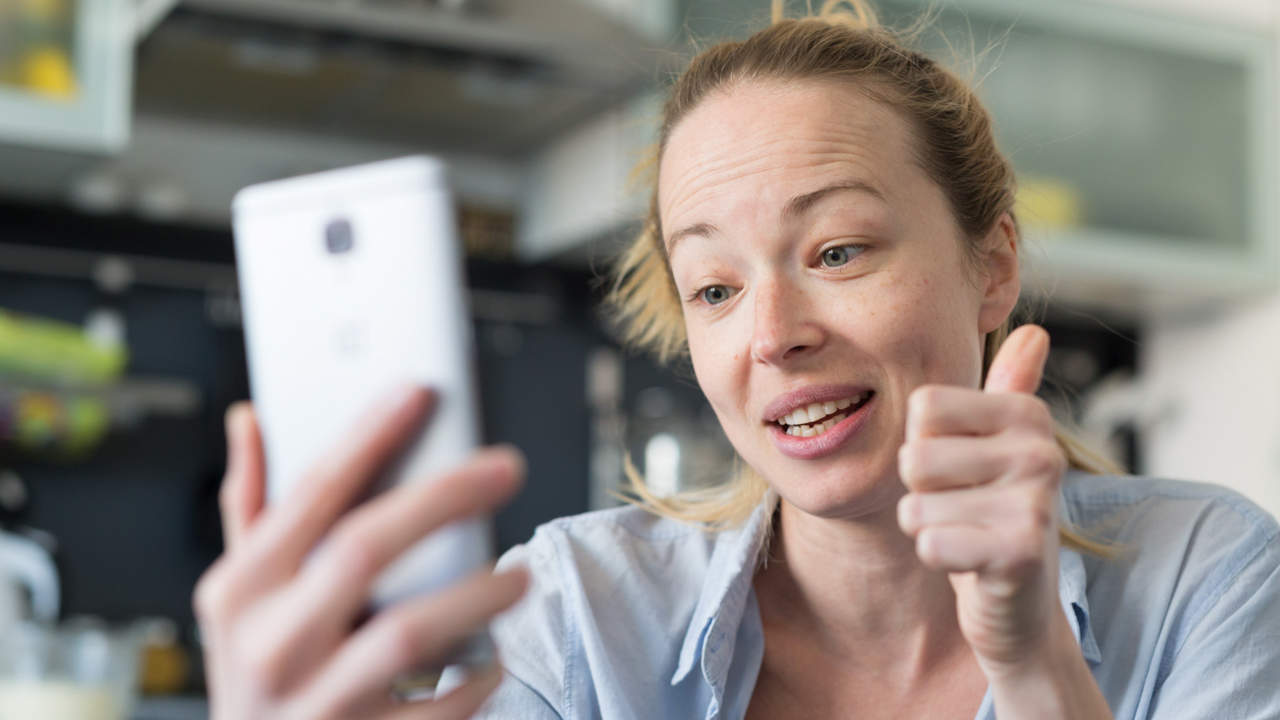
[[[1083,1],[940,8],[925,49],[975,65],[1019,174],[1029,291],[1143,313],[1274,284],[1274,27]]]

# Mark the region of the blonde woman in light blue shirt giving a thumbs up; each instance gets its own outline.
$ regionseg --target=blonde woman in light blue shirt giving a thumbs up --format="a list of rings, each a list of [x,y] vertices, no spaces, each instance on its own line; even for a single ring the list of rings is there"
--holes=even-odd
[[[550,523],[511,570],[347,637],[371,574],[512,492],[516,461],[339,520],[404,406],[250,529],[239,409],[230,550],[197,593],[215,716],[465,716],[493,674],[422,706],[385,688],[509,603],[518,566],[493,717],[1280,716],[1276,523],[1220,488],[1088,473],[1033,395],[1047,334],[1007,334],[1014,179],[986,111],[861,4],[780,5],[677,81],[614,293],[632,341],[687,350],[745,471],[637,486],[643,507]],[[335,523],[344,551],[298,573]]]

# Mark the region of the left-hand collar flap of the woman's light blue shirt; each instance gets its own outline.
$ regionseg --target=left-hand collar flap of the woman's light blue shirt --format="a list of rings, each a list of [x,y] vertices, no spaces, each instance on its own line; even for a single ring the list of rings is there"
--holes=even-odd
[[[703,582],[694,618],[689,623],[685,642],[680,648],[676,674],[671,678],[672,685],[680,684],[698,666],[703,642],[717,616],[736,609],[739,618],[735,620],[741,621],[741,612],[745,609],[746,596],[751,591],[751,579],[755,577],[755,568],[760,557],[760,548],[764,544],[764,538],[768,537],[773,509],[777,507],[777,503],[778,496],[773,491],[768,491],[764,500],[751,511],[742,525],[731,530],[721,530],[717,534],[707,579]],[[724,619],[724,621],[728,620],[728,618]]]

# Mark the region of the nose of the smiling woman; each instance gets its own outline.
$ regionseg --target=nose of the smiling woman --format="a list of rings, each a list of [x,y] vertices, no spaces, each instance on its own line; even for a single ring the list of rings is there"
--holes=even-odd
[[[755,287],[751,359],[778,365],[812,354],[823,342],[810,299],[794,283],[772,279]]]

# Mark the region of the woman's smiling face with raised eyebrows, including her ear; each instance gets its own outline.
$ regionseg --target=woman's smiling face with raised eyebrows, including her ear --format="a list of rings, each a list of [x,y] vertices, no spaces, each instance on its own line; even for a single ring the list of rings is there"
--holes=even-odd
[[[978,387],[982,338],[1016,301],[1011,222],[987,272],[966,266],[913,143],[851,83],[748,82],[707,97],[663,154],[698,382],[742,459],[809,514],[892,510],[909,393]]]

